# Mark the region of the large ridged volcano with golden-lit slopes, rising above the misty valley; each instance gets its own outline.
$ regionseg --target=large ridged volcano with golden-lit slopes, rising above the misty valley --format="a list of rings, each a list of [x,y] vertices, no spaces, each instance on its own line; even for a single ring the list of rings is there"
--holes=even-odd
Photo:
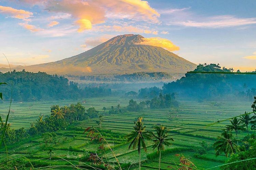
[[[119,35],[81,54],[57,62],[25,67],[28,71],[48,73],[133,73],[186,72],[196,64],[161,47],[136,45],[141,35]]]

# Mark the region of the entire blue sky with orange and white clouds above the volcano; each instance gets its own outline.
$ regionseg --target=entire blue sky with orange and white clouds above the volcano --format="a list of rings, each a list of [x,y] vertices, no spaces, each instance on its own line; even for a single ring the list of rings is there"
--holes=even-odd
[[[255,0],[0,0],[0,52],[26,66],[140,34],[195,64],[253,71],[255,9]]]

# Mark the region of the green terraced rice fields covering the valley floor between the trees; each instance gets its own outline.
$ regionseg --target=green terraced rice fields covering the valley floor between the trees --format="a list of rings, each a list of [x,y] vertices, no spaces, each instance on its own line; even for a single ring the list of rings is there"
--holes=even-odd
[[[84,102],[83,102],[84,101]],[[85,102],[86,101],[86,102]],[[86,108],[95,107],[97,110],[103,112],[102,107],[108,109],[111,106],[116,106],[120,103],[121,107],[128,104],[129,99],[120,97],[105,97],[93,98],[79,101],[49,101],[49,102],[31,102],[31,103],[14,103],[12,105],[13,113],[9,122],[12,127],[17,129],[20,127],[29,127],[30,122],[35,121],[39,115],[48,115],[50,106],[58,104],[60,106],[70,103],[81,102]],[[174,113],[171,109],[145,110],[143,112],[128,112],[122,115],[109,115],[103,117],[102,130],[106,140],[113,147],[121,164],[132,163],[130,169],[138,169],[138,151],[128,150],[128,143],[123,136],[133,131],[133,121],[142,116],[144,118],[144,125],[149,131],[160,123],[167,126],[171,137],[174,139],[173,145],[166,149],[179,148],[182,151],[175,151],[174,153],[162,156],[161,169],[170,169],[168,166],[176,167],[179,165],[179,158],[175,154],[183,154],[186,158],[191,160],[198,168],[210,168],[221,165],[227,159],[224,155],[215,157],[214,150],[208,151],[207,154],[195,157],[192,147],[198,146],[202,140],[212,145],[217,136],[221,134],[221,130],[229,121],[215,124],[213,126],[206,126],[217,120],[223,120],[232,116],[238,116],[244,111],[251,111],[251,102],[220,102],[221,106],[212,106],[210,102],[198,103],[195,101],[182,100],[180,101],[178,113]],[[8,110],[8,103],[0,104],[1,113],[6,113]],[[168,120],[168,113],[172,113],[174,119]],[[2,114],[4,115],[4,114]],[[90,138],[83,134],[84,130],[89,126],[98,127],[95,123],[96,119],[81,121],[72,125],[67,130],[57,131],[57,144],[53,145],[54,155],[62,155],[70,160],[83,160],[86,153],[95,152],[98,149],[99,143],[90,141]],[[246,133],[240,133],[238,136],[242,138]],[[12,154],[22,155],[24,153],[47,154],[48,151],[40,149],[42,147],[42,139],[35,137],[29,141],[19,143],[19,147],[9,147],[9,156]],[[147,141],[147,153],[142,151],[142,169],[158,169],[158,159],[147,159],[147,155],[156,150],[151,148],[152,142]],[[4,150],[1,151],[1,156],[4,157]],[[116,164],[113,154],[109,150],[98,153],[106,162]],[[29,161],[38,162],[40,156],[30,156]],[[86,160],[83,160],[86,162]],[[57,162],[55,162],[58,164]],[[52,162],[52,164],[55,164]]]

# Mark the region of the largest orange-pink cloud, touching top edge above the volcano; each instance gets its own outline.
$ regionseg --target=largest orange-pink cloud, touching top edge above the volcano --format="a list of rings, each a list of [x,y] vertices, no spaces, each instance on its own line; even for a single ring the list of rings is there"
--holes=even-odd
[[[160,14],[143,0],[21,0],[44,7],[51,13],[69,14],[79,26],[78,32],[90,30],[107,19],[130,19],[158,23]]]

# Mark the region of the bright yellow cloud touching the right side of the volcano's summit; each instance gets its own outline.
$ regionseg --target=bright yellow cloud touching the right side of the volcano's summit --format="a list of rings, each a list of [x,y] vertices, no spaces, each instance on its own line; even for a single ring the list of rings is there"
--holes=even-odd
[[[175,46],[170,40],[160,37],[151,37],[151,38],[142,38],[142,42],[137,43],[136,45],[147,45],[162,47],[168,51],[177,51],[180,50],[180,47]]]

